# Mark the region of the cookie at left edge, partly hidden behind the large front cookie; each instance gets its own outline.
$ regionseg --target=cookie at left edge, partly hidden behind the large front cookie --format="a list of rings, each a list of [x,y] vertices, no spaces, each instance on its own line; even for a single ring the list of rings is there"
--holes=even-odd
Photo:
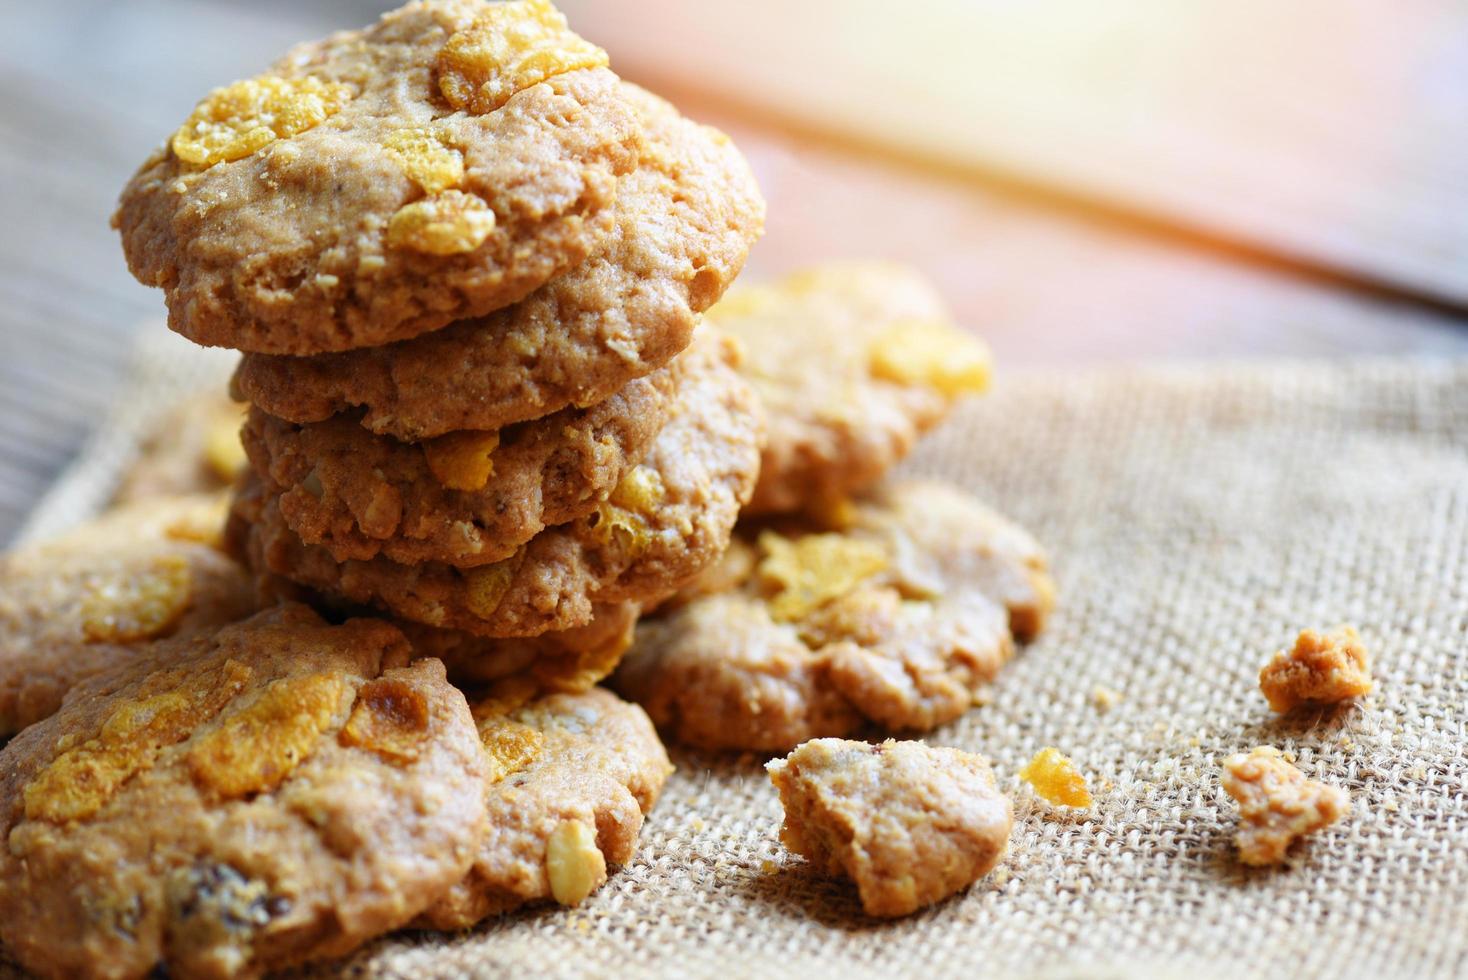
[[[154,497],[0,556],[0,735],[48,717],[81,681],[255,609],[219,552],[219,496]]]

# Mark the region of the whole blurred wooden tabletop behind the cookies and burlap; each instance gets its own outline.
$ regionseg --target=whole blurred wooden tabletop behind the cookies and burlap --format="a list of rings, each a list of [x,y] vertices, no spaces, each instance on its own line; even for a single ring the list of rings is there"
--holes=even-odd
[[[0,540],[107,411],[161,296],[107,217],[208,88],[361,0],[9,4]],[[568,0],[734,135],[750,276],[912,263],[1004,367],[1468,354],[1468,9],[1450,0]]]

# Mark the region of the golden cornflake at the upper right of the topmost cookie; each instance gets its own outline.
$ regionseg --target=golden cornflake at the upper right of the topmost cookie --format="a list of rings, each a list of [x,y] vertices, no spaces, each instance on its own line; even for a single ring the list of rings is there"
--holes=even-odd
[[[606,51],[571,32],[549,0],[515,0],[495,4],[448,40],[439,91],[454,109],[482,114],[548,78],[606,65]]]

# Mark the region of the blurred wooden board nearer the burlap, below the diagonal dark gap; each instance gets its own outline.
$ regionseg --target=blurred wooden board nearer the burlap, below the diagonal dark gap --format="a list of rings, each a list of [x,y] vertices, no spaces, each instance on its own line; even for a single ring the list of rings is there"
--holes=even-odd
[[[132,282],[107,227],[123,180],[210,87],[260,70],[295,40],[373,15],[348,0],[72,0],[7,10],[0,540],[106,412],[138,324],[161,320],[161,296]],[[984,182],[791,135],[690,87],[668,94],[728,128],[756,167],[771,217],[750,274],[843,255],[913,263],[989,339],[1001,371],[1157,356],[1468,354],[1456,320],[1430,310],[1224,261],[1116,223],[1035,208]]]

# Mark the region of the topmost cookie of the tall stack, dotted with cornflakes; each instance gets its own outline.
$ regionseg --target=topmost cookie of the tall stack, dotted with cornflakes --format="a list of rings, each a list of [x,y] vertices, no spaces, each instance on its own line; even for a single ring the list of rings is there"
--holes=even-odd
[[[410,3],[298,45],[132,178],[128,267],[173,330],[267,354],[506,307],[612,233],[642,136],[605,65],[548,0]]]

